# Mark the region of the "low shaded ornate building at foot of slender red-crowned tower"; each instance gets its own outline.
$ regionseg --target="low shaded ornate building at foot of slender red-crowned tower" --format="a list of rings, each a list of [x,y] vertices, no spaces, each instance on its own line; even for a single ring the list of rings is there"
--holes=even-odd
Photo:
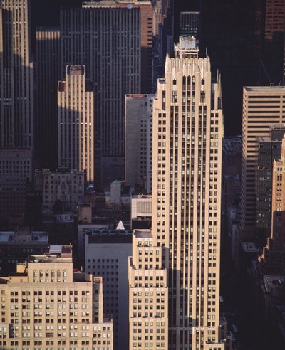
[[[43,191],[43,211],[52,211],[56,202],[59,211],[72,211],[83,201],[84,174],[77,170],[58,168],[56,171],[36,171],[35,181]],[[62,207],[61,207],[62,206]]]

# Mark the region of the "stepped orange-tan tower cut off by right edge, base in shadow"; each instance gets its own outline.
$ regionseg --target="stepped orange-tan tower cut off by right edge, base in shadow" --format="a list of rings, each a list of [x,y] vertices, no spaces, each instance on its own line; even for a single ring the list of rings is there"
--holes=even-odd
[[[285,269],[285,137],[281,159],[274,160],[272,174],[272,228],[262,258],[264,272],[284,274]]]

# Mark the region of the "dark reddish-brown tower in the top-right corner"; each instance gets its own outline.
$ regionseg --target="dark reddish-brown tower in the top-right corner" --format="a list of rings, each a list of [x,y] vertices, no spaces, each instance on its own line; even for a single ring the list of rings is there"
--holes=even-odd
[[[274,33],[285,31],[285,1],[266,0],[265,4],[265,31],[266,41],[274,39]]]

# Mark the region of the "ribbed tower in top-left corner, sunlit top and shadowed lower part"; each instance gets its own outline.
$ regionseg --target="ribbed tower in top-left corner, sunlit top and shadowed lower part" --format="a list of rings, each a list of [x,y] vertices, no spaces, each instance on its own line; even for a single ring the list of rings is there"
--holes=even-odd
[[[0,146],[33,147],[28,0],[0,3]]]

